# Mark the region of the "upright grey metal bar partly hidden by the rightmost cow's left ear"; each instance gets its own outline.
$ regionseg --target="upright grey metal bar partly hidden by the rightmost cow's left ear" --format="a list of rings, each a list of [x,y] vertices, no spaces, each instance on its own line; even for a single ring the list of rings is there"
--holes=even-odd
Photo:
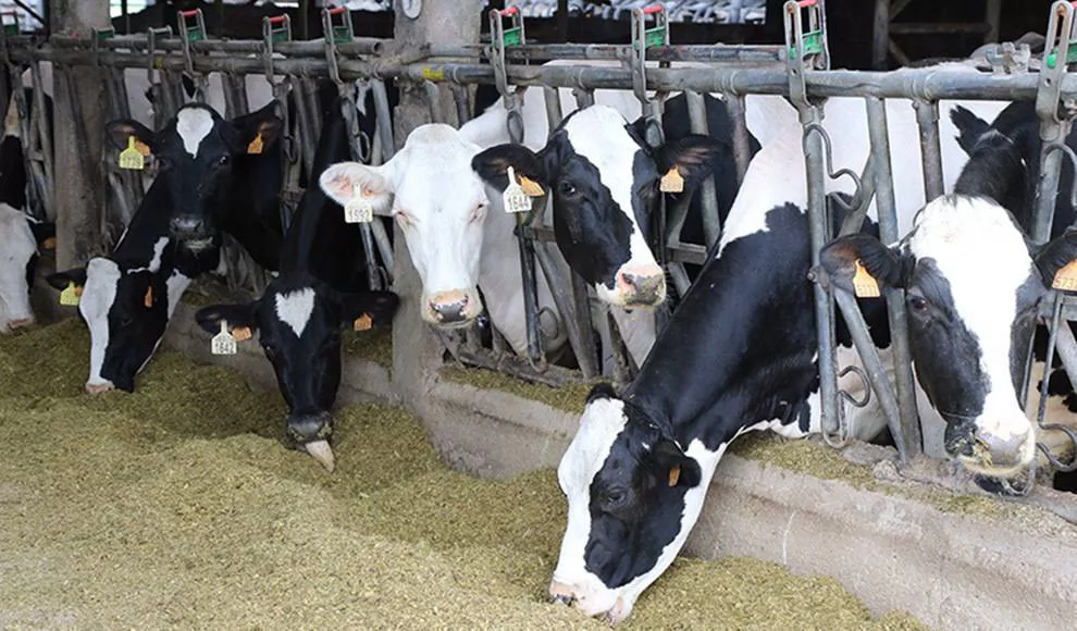
[[[882,99],[868,97],[868,134],[871,138],[871,156],[875,160],[875,201],[879,214],[879,236],[882,243],[892,244],[899,238],[898,207],[894,203],[894,185],[890,165],[890,137],[887,126],[887,103]],[[904,441],[899,451],[907,461],[920,453],[920,426],[916,411],[916,391],[913,384],[912,354],[908,347],[908,313],[905,310],[905,293],[902,289],[887,289],[887,311],[890,317],[890,337],[893,348],[894,380],[898,385],[898,404],[901,412],[900,432],[891,433],[894,440],[899,434]],[[877,393],[878,394],[878,393]]]

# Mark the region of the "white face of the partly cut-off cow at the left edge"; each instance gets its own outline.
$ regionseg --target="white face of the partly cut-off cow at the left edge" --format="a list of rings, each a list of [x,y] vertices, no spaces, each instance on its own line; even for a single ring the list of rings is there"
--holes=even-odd
[[[0,203],[0,333],[34,323],[26,271],[37,242],[22,211]]]

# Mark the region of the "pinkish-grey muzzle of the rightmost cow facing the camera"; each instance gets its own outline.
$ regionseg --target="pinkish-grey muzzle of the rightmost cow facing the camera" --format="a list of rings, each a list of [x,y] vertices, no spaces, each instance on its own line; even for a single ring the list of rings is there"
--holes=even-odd
[[[969,471],[1006,477],[1032,462],[1036,430],[1022,416],[1017,422],[963,419],[946,425],[945,449]]]

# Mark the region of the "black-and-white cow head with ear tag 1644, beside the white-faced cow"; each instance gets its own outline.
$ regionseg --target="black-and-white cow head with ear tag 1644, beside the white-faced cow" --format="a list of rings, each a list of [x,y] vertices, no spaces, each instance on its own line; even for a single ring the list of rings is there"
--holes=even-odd
[[[647,246],[661,198],[659,182],[677,169],[685,190],[713,172],[717,140],[690,135],[657,149],[620,112],[592,106],[569,115],[537,153],[519,145],[487,149],[475,172],[504,191],[507,168],[553,195],[557,247],[598,297],[621,307],[656,307],[666,276]]]

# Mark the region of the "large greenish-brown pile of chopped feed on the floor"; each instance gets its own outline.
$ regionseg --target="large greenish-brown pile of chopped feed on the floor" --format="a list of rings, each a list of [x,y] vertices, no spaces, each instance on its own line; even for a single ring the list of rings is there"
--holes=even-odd
[[[337,470],[277,440],[278,395],[160,352],[82,393],[77,320],[0,337],[0,627],[602,628],[543,599],[552,471],[446,469],[404,411],[337,413]],[[829,579],[678,560],[628,628],[911,629]]]

